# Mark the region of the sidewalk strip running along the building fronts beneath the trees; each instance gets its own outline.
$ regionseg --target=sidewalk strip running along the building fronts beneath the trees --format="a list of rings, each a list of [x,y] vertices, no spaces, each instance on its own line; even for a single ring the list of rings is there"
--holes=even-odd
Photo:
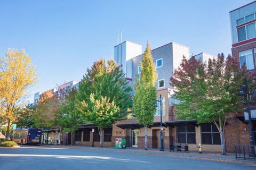
[[[95,151],[105,151],[105,152],[124,152],[130,154],[141,154],[141,155],[154,155],[154,156],[164,156],[164,157],[180,157],[180,158],[189,158],[189,159],[203,159],[203,160],[212,160],[219,162],[231,162],[231,163],[242,163],[242,164],[255,164],[256,160],[250,159],[236,159],[235,153],[227,153],[227,155],[221,155],[218,152],[203,152],[199,154],[198,152],[191,151],[189,153],[184,152],[170,152],[169,149],[165,151],[159,151],[159,149],[145,150],[143,148],[126,148],[126,149],[115,149],[114,147],[90,147],[90,146],[65,146],[65,145],[42,145],[41,147],[49,148],[67,148],[67,149],[85,149],[85,150],[95,150]]]

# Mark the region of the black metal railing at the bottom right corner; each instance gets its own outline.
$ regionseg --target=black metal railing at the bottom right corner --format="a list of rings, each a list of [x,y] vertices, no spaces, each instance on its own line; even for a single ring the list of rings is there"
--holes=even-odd
[[[254,150],[254,152],[252,152]],[[255,146],[254,145],[236,145],[235,146],[236,159],[255,159]]]

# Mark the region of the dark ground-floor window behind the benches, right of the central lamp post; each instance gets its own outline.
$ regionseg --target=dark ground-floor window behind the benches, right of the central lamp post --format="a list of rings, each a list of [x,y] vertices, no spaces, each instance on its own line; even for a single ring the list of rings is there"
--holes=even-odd
[[[195,126],[177,126],[177,141],[178,143],[196,143]]]

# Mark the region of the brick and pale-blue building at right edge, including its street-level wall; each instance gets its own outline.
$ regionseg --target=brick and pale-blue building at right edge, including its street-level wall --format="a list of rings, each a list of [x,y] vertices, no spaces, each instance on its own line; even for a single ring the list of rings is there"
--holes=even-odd
[[[229,12],[230,27],[231,27],[231,40],[232,40],[232,55],[239,60],[240,67],[243,64],[250,72],[255,72],[256,69],[256,1],[238,7],[233,11]],[[250,105],[254,141],[256,143],[256,106],[255,104]],[[232,139],[233,145],[250,145],[250,132],[248,113],[244,112],[240,115],[234,116],[236,119],[229,120],[228,124],[236,125],[236,132],[231,133],[229,138]],[[238,121],[239,120],[239,121]],[[236,135],[237,133],[243,133]]]

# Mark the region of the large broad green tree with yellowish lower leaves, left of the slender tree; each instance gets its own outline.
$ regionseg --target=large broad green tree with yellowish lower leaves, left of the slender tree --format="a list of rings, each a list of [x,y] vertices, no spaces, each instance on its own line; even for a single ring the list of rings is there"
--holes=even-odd
[[[77,91],[77,108],[86,122],[98,126],[100,147],[103,147],[103,128],[125,118],[131,105],[130,91],[123,71],[113,60],[106,65],[101,59],[87,69]]]

